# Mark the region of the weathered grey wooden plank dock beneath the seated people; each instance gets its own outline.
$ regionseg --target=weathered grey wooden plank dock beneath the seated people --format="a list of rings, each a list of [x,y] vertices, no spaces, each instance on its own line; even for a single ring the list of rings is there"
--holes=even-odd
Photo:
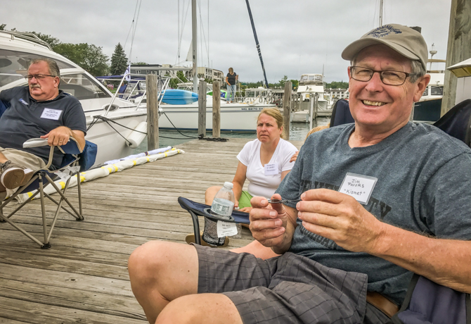
[[[61,213],[51,249],[0,223],[0,323],[147,323],[129,285],[129,254],[153,239],[184,242],[193,226],[177,198],[204,202],[207,187],[231,181],[246,142],[193,140],[177,146],[185,154],[82,184],[85,220]],[[40,239],[40,214],[33,201],[12,220]],[[228,249],[251,240],[243,228]]]

